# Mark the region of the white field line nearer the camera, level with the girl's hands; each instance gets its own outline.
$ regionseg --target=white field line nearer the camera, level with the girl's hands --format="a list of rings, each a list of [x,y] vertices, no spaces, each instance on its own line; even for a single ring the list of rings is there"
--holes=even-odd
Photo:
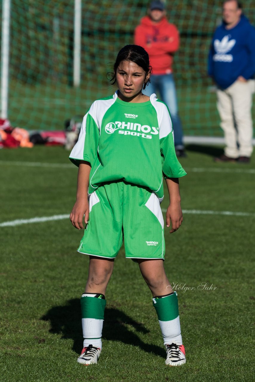
[[[166,209],[162,208],[162,212],[166,212]],[[251,213],[251,212],[211,211],[211,210],[208,210],[208,211],[207,210],[182,210],[182,212],[184,214],[193,214],[193,215],[225,215],[225,216],[255,217],[255,213]],[[10,222],[2,222],[0,223],[0,227],[14,227],[16,225],[29,224],[29,223],[43,223],[43,222],[50,222],[52,220],[63,220],[68,218],[69,218],[69,214],[34,217],[32,219],[16,219],[16,220],[11,220]]]

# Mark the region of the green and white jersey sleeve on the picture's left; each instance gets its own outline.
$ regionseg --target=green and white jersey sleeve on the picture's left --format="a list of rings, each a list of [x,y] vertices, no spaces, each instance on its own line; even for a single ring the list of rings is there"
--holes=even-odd
[[[98,143],[99,128],[88,112],[83,118],[78,141],[73,147],[69,159],[76,166],[79,166],[80,160],[86,160],[92,167],[97,156]]]

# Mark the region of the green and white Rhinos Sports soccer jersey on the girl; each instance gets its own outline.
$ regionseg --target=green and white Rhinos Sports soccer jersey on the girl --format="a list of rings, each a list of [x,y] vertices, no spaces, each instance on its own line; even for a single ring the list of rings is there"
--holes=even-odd
[[[186,175],[175,155],[172,122],[164,102],[124,102],[117,96],[93,102],[83,118],[70,160],[91,164],[89,193],[125,181],[164,196],[162,178]]]

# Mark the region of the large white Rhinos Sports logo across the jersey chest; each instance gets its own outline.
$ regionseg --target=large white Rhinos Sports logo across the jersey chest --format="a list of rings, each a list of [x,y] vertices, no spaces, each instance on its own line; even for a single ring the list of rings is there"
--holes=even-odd
[[[158,135],[159,128],[151,127],[149,125],[141,125],[140,123],[133,122],[109,122],[104,128],[107,134],[113,134],[114,131],[119,130],[119,134],[137,136],[141,138],[151,139],[152,135]],[[152,134],[152,135],[151,135]]]

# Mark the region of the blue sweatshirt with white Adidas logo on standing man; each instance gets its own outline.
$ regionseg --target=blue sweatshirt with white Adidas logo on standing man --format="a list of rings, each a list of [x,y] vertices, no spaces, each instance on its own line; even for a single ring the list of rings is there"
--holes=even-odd
[[[223,22],[213,35],[209,53],[208,74],[226,89],[239,76],[246,79],[255,74],[255,28],[242,15],[239,23],[226,29]]]

